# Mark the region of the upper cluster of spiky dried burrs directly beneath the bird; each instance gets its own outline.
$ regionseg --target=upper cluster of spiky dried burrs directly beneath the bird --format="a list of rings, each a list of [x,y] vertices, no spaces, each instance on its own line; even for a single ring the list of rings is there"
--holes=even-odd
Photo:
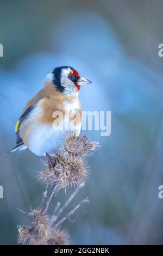
[[[62,147],[53,152],[54,156],[46,154],[46,169],[37,174],[38,180],[47,185],[55,184],[56,191],[85,182],[87,168],[82,161],[83,157],[91,155],[98,145],[98,142],[91,142],[86,135],[67,133]]]

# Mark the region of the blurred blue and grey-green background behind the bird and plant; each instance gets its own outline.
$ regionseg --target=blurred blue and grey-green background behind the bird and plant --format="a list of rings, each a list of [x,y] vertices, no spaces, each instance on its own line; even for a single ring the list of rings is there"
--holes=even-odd
[[[15,145],[22,108],[55,66],[71,65],[93,84],[81,89],[83,110],[111,111],[111,136],[89,159],[89,181],[65,222],[74,244],[163,243],[163,2],[161,0],[0,0],[0,243],[16,244],[17,225],[31,223],[45,186],[39,157],[3,154]],[[72,190],[60,191],[51,209]]]

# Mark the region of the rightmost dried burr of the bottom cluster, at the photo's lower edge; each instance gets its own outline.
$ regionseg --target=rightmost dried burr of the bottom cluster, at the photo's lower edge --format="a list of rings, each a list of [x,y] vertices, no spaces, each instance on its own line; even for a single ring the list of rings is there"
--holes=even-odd
[[[70,245],[70,234],[66,229],[55,229],[48,241],[48,245]]]

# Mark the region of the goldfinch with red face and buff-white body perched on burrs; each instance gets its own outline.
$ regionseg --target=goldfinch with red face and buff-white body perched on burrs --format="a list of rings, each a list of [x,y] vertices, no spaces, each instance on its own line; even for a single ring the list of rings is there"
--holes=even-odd
[[[66,130],[79,134],[82,108],[78,95],[80,86],[87,83],[91,81],[71,66],[54,68],[44,87],[24,107],[15,126],[17,145],[9,153],[29,148],[35,155],[45,156],[58,147]]]

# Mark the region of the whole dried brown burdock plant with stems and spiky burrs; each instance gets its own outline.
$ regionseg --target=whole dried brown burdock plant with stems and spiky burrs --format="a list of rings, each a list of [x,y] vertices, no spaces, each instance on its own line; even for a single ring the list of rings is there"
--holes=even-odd
[[[61,224],[70,219],[71,215],[84,203],[89,203],[85,198],[73,210],[68,212],[60,220],[62,212],[71,203],[87,180],[88,168],[85,157],[90,156],[98,147],[97,142],[91,142],[86,135],[76,136],[70,133],[65,137],[60,149],[54,150],[54,156],[46,154],[46,169],[37,174],[37,178],[43,184],[51,185],[51,191],[43,193],[40,206],[30,212],[28,216],[33,218],[32,227],[18,226],[18,243],[22,245],[68,245],[71,243],[68,231],[61,228]],[[47,209],[53,194],[57,194],[61,188],[77,186],[76,190],[66,200],[63,206],[58,202],[55,205],[53,215],[47,215]]]

